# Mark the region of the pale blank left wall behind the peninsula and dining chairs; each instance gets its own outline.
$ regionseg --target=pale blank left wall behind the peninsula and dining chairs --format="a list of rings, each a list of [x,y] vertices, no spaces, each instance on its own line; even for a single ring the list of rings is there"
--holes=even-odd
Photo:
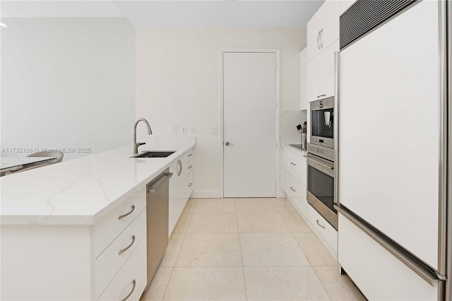
[[[130,145],[135,28],[125,18],[3,18],[1,148]],[[1,155],[26,155],[26,153]],[[65,153],[64,160],[84,153]]]

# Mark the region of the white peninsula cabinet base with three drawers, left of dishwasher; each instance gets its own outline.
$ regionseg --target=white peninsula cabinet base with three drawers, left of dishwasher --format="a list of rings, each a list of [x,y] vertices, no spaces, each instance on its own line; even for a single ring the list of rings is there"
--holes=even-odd
[[[1,299],[112,300],[105,295],[111,283],[126,290],[119,277],[131,282],[146,275],[145,243],[136,252],[145,233],[145,184],[94,225],[2,225],[1,272],[8,277],[1,279]],[[143,285],[129,300],[139,300]]]

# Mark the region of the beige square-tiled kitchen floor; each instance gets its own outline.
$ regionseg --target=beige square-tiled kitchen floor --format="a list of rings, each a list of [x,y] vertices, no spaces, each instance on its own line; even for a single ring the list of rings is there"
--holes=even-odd
[[[287,199],[190,199],[141,300],[365,300]]]

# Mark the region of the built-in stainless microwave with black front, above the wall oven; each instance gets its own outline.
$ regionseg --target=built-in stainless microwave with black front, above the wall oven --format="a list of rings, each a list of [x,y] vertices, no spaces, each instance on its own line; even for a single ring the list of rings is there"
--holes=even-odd
[[[334,97],[310,103],[309,140],[318,146],[334,148]]]

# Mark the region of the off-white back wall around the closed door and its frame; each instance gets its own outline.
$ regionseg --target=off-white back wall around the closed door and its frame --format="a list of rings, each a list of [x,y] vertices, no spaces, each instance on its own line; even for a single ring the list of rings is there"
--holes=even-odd
[[[299,107],[299,52],[306,28],[137,28],[136,118],[157,136],[196,127],[194,196],[220,189],[220,49],[279,48],[281,109]],[[258,112],[256,112],[258,114]],[[145,127],[138,136],[145,136]]]

